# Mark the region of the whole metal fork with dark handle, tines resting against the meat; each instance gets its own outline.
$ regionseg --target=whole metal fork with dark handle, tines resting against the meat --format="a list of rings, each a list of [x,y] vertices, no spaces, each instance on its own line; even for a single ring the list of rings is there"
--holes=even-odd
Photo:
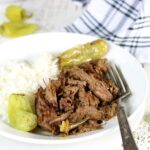
[[[109,70],[108,77],[111,80],[113,80],[120,89],[120,95],[117,100],[118,103],[117,118],[119,122],[124,150],[138,150],[127,120],[124,107],[121,103],[123,99],[131,95],[130,88],[119,67],[117,67],[115,64],[112,64],[110,65],[108,70]]]

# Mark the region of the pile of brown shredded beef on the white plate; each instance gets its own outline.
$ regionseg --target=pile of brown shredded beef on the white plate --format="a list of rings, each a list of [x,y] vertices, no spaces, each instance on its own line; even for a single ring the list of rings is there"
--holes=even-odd
[[[38,125],[62,135],[62,121],[75,124],[88,118],[67,134],[100,129],[100,124],[112,118],[117,110],[115,99],[119,88],[107,79],[108,66],[106,59],[99,59],[64,68],[57,80],[49,80],[45,89],[40,87],[36,93]]]

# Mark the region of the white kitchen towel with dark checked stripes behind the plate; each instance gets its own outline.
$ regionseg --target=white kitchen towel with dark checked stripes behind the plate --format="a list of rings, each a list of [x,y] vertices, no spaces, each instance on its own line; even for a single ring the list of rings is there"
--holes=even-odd
[[[105,38],[150,63],[150,0],[91,0],[65,30]]]

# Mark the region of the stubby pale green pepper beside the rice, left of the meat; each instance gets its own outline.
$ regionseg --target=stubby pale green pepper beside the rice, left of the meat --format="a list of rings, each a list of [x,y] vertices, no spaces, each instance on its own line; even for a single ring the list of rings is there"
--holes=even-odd
[[[31,131],[37,126],[37,116],[28,96],[11,94],[8,101],[8,119],[11,126],[22,131]]]

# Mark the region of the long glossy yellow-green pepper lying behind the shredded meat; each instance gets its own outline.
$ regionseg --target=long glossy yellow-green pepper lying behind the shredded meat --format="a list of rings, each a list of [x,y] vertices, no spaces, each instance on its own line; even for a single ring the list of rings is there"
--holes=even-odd
[[[105,40],[98,39],[90,43],[85,43],[78,47],[66,50],[59,57],[60,68],[71,67],[89,60],[101,58],[108,51]]]

